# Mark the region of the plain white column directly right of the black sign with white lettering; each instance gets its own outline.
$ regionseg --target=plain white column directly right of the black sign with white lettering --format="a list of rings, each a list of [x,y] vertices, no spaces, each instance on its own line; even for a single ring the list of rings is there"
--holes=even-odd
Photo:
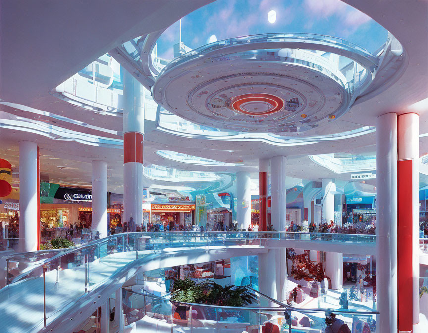
[[[92,230],[107,237],[107,163],[92,161]]]

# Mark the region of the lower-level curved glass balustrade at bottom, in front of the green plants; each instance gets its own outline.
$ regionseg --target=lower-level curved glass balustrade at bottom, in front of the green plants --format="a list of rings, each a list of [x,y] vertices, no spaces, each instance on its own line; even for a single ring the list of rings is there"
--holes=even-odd
[[[183,303],[168,297],[154,296],[122,289],[125,324],[134,327],[136,333],[150,332],[328,332],[326,316],[336,315],[337,324],[347,325],[357,332],[356,324],[375,331],[378,311],[352,309],[300,309],[259,294],[258,302],[247,306],[229,307],[210,304]],[[272,302],[273,301],[273,302]],[[276,303],[278,306],[261,306],[260,303]],[[135,324],[133,324],[135,323]],[[275,331],[269,331],[274,326]],[[327,329],[328,330],[328,329]],[[346,331],[343,331],[346,332]],[[358,331],[358,332],[361,332]]]

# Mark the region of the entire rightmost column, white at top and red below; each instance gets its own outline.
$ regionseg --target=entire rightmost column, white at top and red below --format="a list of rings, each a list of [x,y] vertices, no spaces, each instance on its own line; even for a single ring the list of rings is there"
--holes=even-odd
[[[419,116],[398,116],[398,332],[419,323]],[[380,283],[382,281],[379,281]]]

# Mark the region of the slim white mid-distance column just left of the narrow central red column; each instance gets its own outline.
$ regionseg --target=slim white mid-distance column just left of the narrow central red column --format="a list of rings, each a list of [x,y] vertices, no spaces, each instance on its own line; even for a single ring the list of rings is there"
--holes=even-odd
[[[240,229],[251,224],[251,179],[248,172],[236,172],[236,219]]]

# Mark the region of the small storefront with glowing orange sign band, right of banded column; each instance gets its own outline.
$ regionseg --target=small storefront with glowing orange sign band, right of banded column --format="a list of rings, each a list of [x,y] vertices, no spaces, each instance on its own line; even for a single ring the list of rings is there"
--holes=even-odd
[[[194,221],[195,204],[152,204],[151,214],[151,224],[160,226],[160,231],[188,230]]]

